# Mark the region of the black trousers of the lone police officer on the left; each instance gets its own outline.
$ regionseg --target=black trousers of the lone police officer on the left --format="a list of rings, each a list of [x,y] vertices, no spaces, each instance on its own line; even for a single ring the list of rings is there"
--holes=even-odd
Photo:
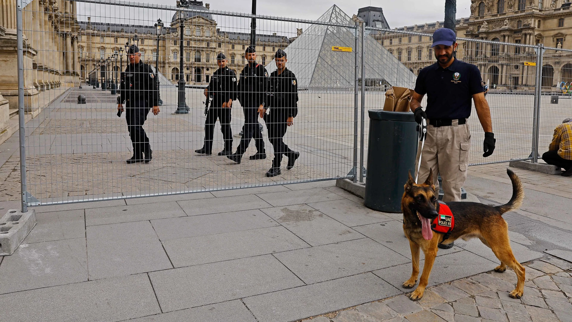
[[[125,108],[127,129],[133,144],[133,155],[141,159],[144,153],[148,154],[151,151],[149,138],[142,126],[147,120],[150,109],[149,101],[147,100],[129,100]]]

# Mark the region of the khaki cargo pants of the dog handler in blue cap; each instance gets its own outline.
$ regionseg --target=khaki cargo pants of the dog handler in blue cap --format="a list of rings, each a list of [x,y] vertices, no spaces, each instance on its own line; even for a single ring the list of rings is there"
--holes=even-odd
[[[433,169],[433,182],[439,191],[438,174],[443,181],[443,201],[460,201],[461,187],[467,179],[468,151],[471,146],[471,133],[468,124],[459,125],[454,120],[451,126],[434,127],[427,125],[427,138],[423,147],[421,168],[418,182],[427,179],[429,170]],[[417,151],[417,159],[421,151],[421,142]],[[418,164],[415,164],[417,169]]]

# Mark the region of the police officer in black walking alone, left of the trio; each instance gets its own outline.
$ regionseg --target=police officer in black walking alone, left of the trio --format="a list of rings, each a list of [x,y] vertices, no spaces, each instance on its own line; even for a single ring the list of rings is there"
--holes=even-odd
[[[127,163],[142,161],[149,163],[153,151],[151,151],[149,138],[142,125],[147,120],[147,114],[151,108],[153,108],[154,115],[159,113],[157,75],[150,65],[141,61],[141,53],[136,45],[129,47],[128,54],[130,64],[125,72],[121,73],[121,95],[117,97],[118,115],[123,111],[123,103],[125,101],[127,103],[125,119],[133,144],[133,156],[127,160]],[[145,154],[145,159],[143,154]]]

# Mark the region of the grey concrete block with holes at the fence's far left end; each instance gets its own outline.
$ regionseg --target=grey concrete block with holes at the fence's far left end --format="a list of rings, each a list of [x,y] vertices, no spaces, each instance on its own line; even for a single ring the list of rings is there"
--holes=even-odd
[[[0,256],[11,255],[36,224],[35,210],[10,209],[0,218]]]

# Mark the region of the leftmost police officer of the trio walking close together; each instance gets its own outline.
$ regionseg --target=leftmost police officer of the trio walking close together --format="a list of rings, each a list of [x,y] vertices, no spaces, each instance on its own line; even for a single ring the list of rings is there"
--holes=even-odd
[[[216,119],[220,120],[220,129],[223,132],[224,150],[219,155],[232,154],[232,130],[231,130],[231,107],[232,101],[236,100],[236,74],[227,67],[227,56],[219,53],[216,57],[219,69],[210,78],[209,86],[205,89],[206,99],[213,97],[212,103],[205,121],[205,143],[198,154],[212,154],[213,132],[215,131]]]

